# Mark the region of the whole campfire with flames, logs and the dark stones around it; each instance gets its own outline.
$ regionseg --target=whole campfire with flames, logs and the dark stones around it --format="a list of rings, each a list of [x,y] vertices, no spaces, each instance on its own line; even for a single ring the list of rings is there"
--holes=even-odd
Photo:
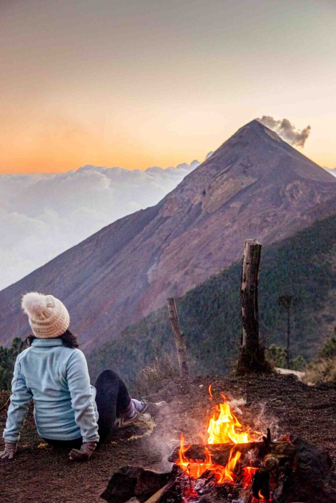
[[[212,399],[211,386],[209,394]],[[202,443],[187,444],[181,434],[180,446],[169,457],[174,463],[171,472],[123,467],[112,476],[102,497],[111,503],[307,501],[291,497],[302,494],[300,484],[307,488],[312,482],[305,480],[307,468],[320,467],[317,497],[330,469],[325,453],[289,435],[272,439],[270,428],[260,432],[243,425],[223,394],[221,399],[212,407]]]

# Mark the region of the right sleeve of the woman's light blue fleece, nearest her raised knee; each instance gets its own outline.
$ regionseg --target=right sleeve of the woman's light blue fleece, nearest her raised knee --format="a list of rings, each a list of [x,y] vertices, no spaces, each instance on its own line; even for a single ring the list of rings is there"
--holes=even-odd
[[[98,424],[91,393],[90,376],[85,356],[80,350],[71,351],[66,365],[66,381],[70,391],[76,425],[85,442],[98,442]]]

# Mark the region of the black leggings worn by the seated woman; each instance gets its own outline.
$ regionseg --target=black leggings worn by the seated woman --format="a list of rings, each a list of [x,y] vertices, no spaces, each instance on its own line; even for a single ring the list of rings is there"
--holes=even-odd
[[[116,417],[125,410],[131,401],[125,383],[113,370],[104,370],[99,374],[95,387],[97,389],[96,403],[99,413],[98,433],[100,440],[104,442],[108,434],[112,431]],[[75,440],[51,440],[44,439],[53,447],[79,448],[82,438]]]

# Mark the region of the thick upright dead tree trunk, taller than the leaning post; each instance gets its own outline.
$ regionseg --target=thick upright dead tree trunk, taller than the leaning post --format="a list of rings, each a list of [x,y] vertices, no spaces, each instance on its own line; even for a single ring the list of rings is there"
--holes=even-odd
[[[265,348],[260,343],[258,319],[258,281],[262,245],[256,239],[246,239],[242,262],[241,346],[237,373],[268,370]]]

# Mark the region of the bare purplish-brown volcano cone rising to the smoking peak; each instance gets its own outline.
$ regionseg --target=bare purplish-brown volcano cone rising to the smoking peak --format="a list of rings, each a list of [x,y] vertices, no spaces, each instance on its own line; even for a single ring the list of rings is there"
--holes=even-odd
[[[336,179],[274,132],[239,129],[160,203],[103,228],[0,292],[0,344],[23,337],[20,296],[67,305],[87,349],[238,260],[246,237],[283,239],[335,212]]]

